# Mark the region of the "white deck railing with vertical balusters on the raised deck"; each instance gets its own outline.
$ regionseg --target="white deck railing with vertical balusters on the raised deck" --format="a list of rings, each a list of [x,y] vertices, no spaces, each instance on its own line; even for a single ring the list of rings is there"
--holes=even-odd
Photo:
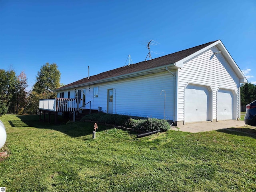
[[[48,110],[54,112],[73,112],[82,106],[82,99],[53,98],[39,100],[40,110]]]

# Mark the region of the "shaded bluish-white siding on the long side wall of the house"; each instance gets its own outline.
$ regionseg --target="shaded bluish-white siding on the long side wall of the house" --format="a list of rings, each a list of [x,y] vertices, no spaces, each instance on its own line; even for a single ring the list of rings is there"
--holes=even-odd
[[[113,89],[113,114],[173,120],[174,77],[169,72],[130,78],[112,83],[99,84],[99,96],[93,99],[93,90],[86,98],[92,98],[92,108],[102,107],[107,112],[108,89]],[[166,102],[164,111],[164,92]]]

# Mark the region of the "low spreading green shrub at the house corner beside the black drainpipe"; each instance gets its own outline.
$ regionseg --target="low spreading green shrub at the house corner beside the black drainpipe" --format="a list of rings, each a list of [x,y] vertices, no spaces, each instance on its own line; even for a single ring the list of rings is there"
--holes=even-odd
[[[132,119],[130,118],[126,125],[135,130],[144,132],[155,130],[169,130],[170,124],[164,119],[148,118],[148,119]]]

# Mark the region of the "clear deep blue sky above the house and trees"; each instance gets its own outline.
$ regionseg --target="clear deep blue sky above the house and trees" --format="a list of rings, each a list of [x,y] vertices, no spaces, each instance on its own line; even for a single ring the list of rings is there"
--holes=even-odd
[[[256,0],[0,0],[0,68],[24,71],[28,89],[46,62],[60,82],[221,40],[256,84]]]

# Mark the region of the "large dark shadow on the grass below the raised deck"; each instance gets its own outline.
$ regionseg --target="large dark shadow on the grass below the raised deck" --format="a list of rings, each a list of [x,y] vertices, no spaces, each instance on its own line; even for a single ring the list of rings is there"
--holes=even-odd
[[[40,121],[38,115],[19,115],[19,120],[9,121],[12,127],[34,127],[38,129],[50,129],[62,132],[70,137],[80,137],[92,135],[94,131],[94,123],[91,122],[66,122],[58,119],[58,124],[54,124],[54,119],[49,123]],[[105,125],[98,125],[97,132],[111,129]]]

